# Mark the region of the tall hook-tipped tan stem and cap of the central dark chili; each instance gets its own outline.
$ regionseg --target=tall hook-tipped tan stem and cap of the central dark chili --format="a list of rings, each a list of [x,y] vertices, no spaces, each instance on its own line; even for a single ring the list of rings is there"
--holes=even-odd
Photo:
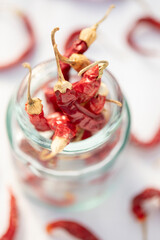
[[[54,54],[55,54],[56,63],[57,63],[57,71],[58,71],[58,82],[54,86],[54,91],[59,90],[61,93],[65,93],[67,89],[72,89],[72,84],[64,79],[64,76],[60,67],[58,49],[55,43],[55,33],[58,30],[59,28],[54,28],[53,31],[51,32],[51,40],[52,40],[52,45],[53,45]]]

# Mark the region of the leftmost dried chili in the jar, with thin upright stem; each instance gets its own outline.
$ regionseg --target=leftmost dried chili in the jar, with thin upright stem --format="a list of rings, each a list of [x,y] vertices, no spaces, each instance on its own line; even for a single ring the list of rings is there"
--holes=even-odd
[[[29,116],[30,122],[35,126],[38,131],[47,131],[50,130],[50,127],[47,123],[47,119],[44,117],[43,105],[39,98],[31,98],[30,94],[30,83],[32,69],[28,63],[23,63],[25,68],[29,69],[29,78],[28,78],[28,101],[25,105],[25,110]]]

